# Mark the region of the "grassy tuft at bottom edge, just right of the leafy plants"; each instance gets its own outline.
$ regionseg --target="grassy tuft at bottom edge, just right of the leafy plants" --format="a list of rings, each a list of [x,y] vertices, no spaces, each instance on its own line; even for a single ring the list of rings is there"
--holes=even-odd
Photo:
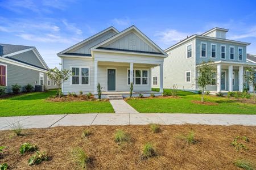
[[[80,147],[73,148],[72,159],[81,169],[86,169],[86,164],[89,163],[89,156]]]

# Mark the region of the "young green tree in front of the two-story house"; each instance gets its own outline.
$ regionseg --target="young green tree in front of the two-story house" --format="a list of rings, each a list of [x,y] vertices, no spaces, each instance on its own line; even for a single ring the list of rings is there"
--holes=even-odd
[[[210,64],[211,62],[202,62],[198,72],[199,76],[197,78],[197,84],[202,88],[202,97],[201,102],[204,102],[204,90],[205,87],[212,84],[212,76],[214,73],[213,66]]]

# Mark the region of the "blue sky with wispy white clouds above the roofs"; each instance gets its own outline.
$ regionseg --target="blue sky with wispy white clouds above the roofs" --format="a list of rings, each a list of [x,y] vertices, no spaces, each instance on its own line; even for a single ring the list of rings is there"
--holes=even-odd
[[[136,25],[162,49],[222,27],[256,53],[256,1],[0,1],[0,42],[36,46],[49,67],[61,62],[56,53],[111,25]]]

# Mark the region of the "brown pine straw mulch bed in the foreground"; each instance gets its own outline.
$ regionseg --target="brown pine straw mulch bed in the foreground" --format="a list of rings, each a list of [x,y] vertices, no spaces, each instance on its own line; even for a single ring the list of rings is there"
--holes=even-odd
[[[87,139],[81,138],[82,130],[92,131]],[[71,149],[81,147],[92,159],[89,169],[237,169],[234,161],[246,159],[256,163],[256,126],[209,126],[209,125],[160,125],[160,133],[152,133],[148,125],[127,126],[69,126],[49,129],[28,129],[24,135],[13,136],[13,131],[0,131],[1,146],[6,146],[0,163],[10,169],[76,169]],[[124,130],[133,141],[119,146],[114,133]],[[194,145],[188,145],[181,134],[195,132]],[[237,136],[249,138],[245,145],[249,150],[236,151],[230,143]],[[51,160],[28,166],[34,153],[21,156],[19,146],[30,142],[46,151]],[[151,142],[158,156],[141,159],[142,147]]]

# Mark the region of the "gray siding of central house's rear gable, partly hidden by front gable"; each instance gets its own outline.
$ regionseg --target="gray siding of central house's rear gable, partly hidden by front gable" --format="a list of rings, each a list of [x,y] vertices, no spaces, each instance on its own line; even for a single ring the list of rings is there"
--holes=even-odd
[[[117,32],[114,32],[113,30],[109,30],[105,33],[102,33],[100,36],[89,40],[88,42],[86,42],[85,44],[82,44],[80,46],[77,46],[77,48],[71,50],[71,53],[79,53],[79,54],[90,54],[90,48],[92,48],[93,46],[100,44],[100,42],[105,41],[106,39],[109,39],[110,37],[114,36],[115,34],[117,34]]]

